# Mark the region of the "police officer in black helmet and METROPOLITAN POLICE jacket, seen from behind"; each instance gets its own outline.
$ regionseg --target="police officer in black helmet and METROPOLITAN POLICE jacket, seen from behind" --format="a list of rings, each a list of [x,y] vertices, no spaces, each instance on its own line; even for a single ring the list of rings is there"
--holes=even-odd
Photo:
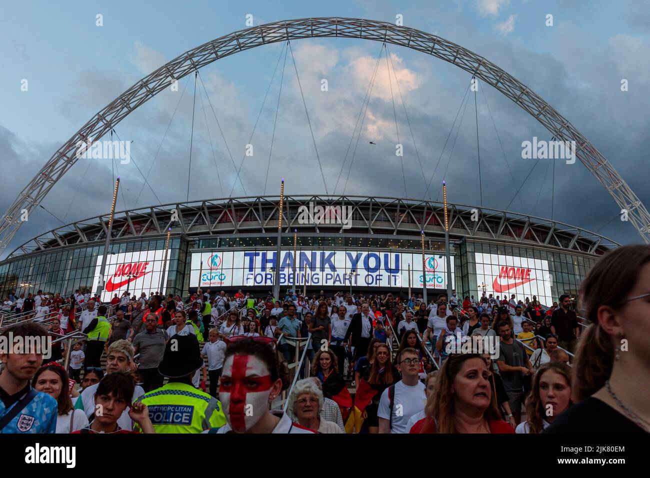
[[[167,342],[158,371],[170,381],[140,397],[156,433],[200,433],[226,423],[221,403],[192,385],[202,366],[194,334],[176,335]]]

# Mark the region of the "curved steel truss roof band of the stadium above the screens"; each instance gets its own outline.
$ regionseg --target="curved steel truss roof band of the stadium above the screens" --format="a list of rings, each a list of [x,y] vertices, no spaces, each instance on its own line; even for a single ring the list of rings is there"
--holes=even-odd
[[[350,228],[340,224],[302,224],[300,207],[351,206]],[[603,254],[618,243],[563,222],[463,204],[447,204],[449,233],[454,241],[467,237],[515,246],[556,248],[583,254]],[[220,235],[273,235],[277,232],[279,196],[246,196],[203,201],[161,204],[129,209],[115,214],[112,241],[162,239],[167,228],[174,235],[191,239]],[[174,213],[178,221],[174,218]],[[428,200],[369,197],[356,195],[285,194],[283,233],[324,235],[354,234],[413,236],[420,231],[428,239],[443,240],[444,206]],[[100,215],[66,224],[34,237],[14,250],[7,261],[23,254],[56,252],[64,247],[103,245],[109,215]],[[5,261],[6,262],[6,261]]]

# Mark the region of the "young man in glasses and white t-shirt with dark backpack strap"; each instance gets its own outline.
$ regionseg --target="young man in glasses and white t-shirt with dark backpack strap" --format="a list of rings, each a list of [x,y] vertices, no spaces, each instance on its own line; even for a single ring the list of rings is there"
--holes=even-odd
[[[411,416],[424,410],[426,393],[419,380],[420,357],[415,349],[406,348],[397,357],[402,380],[385,389],[377,416],[380,433],[406,433]]]

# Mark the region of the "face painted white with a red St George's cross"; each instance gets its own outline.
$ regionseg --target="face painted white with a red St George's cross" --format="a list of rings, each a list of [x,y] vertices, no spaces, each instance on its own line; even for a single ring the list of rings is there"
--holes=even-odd
[[[219,397],[235,432],[250,430],[268,410],[272,383],[268,368],[252,355],[231,355],[224,363]]]

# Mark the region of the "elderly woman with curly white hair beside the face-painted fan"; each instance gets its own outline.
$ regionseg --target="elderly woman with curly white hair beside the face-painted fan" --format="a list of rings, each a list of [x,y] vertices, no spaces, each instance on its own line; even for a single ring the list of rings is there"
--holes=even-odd
[[[317,379],[304,378],[298,380],[289,399],[287,412],[297,419],[298,424],[318,433],[343,433],[343,430],[333,421],[320,418],[320,410],[324,403],[323,390]]]

